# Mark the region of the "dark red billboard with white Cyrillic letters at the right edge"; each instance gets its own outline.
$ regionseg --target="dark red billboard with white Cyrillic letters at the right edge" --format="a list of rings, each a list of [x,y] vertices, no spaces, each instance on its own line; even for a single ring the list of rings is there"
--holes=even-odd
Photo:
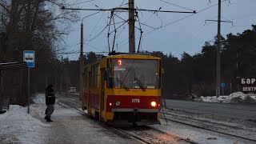
[[[237,78],[243,92],[256,92],[256,78]]]

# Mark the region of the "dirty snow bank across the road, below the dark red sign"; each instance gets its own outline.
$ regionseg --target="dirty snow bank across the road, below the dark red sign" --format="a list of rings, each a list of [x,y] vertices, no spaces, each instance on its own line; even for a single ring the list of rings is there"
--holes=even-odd
[[[223,102],[223,103],[238,103],[238,102],[245,102],[245,103],[256,103],[256,94],[244,94],[242,92],[232,93],[226,96],[202,96],[200,98],[195,98],[195,101],[202,101],[202,102]]]

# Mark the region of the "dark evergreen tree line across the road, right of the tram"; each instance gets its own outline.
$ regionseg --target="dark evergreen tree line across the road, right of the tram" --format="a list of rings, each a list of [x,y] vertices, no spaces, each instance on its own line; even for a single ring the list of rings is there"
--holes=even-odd
[[[158,52],[166,69],[163,96],[215,95],[217,42],[215,37],[214,42],[205,42],[201,53],[190,55],[184,52],[181,59]],[[221,44],[221,82],[226,84],[221,94],[230,94],[240,90],[237,77],[256,75],[256,26],[242,34],[227,34],[226,38],[222,37]]]

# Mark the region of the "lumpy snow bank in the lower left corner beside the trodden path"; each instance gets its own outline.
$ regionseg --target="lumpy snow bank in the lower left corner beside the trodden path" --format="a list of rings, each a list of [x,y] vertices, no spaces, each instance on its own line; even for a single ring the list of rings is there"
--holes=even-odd
[[[27,114],[27,107],[10,105],[5,114],[0,114],[0,143],[42,143],[48,126]]]

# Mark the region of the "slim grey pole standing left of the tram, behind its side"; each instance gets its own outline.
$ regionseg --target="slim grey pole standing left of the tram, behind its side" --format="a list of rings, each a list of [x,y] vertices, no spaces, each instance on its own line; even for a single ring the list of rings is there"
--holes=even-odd
[[[82,65],[83,65],[83,25],[81,22],[81,49],[80,49],[80,98],[82,98]]]

